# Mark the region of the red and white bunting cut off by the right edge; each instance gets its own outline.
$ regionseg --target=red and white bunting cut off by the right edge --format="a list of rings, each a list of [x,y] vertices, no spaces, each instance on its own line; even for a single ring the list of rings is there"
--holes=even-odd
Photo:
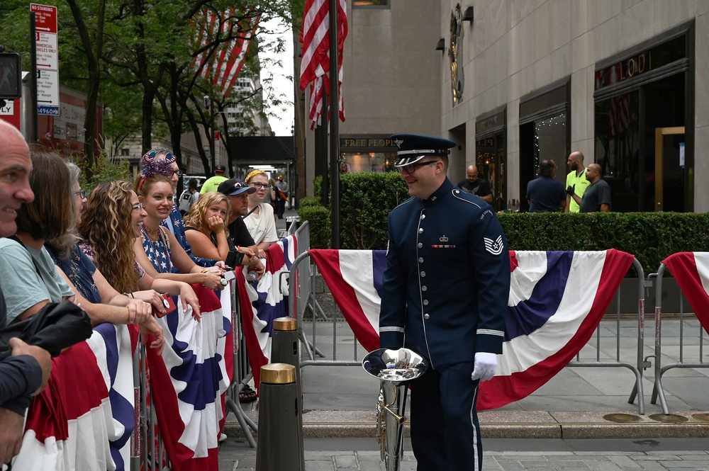
[[[662,261],[709,333],[709,252],[680,252]]]

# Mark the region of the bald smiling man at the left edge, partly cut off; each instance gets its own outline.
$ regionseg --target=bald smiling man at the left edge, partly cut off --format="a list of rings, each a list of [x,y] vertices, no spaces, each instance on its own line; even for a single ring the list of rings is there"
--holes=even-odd
[[[17,210],[31,203],[30,149],[13,126],[0,120],[0,237],[17,232]],[[0,329],[6,324],[6,305],[0,286]],[[44,348],[10,339],[12,354],[0,361],[0,467],[20,452],[25,412],[32,396],[47,385],[52,358]]]

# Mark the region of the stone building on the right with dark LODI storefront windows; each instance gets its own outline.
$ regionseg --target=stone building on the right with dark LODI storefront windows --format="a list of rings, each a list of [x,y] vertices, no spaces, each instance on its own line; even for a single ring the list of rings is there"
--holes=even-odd
[[[709,2],[441,0],[449,176],[476,164],[497,210],[525,210],[542,159],[603,167],[613,211],[709,210]]]

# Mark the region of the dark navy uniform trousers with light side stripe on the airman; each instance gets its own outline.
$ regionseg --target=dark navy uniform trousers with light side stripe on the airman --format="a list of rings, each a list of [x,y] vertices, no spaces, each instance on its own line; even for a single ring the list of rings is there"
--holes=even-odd
[[[411,382],[411,446],[418,471],[482,469],[473,362],[429,368]]]

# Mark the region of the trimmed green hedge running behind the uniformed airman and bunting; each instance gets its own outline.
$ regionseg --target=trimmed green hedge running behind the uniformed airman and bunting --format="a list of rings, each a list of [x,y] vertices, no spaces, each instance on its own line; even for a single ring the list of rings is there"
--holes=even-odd
[[[399,174],[364,172],[340,176],[340,246],[386,249],[386,216],[408,198]],[[303,198],[304,200],[306,198]],[[319,198],[301,200],[301,221],[310,221],[311,246],[330,246],[330,210]],[[456,217],[451,215],[451,217]],[[605,250],[634,254],[655,271],[680,251],[709,251],[709,213],[595,212],[498,215],[513,250]]]

